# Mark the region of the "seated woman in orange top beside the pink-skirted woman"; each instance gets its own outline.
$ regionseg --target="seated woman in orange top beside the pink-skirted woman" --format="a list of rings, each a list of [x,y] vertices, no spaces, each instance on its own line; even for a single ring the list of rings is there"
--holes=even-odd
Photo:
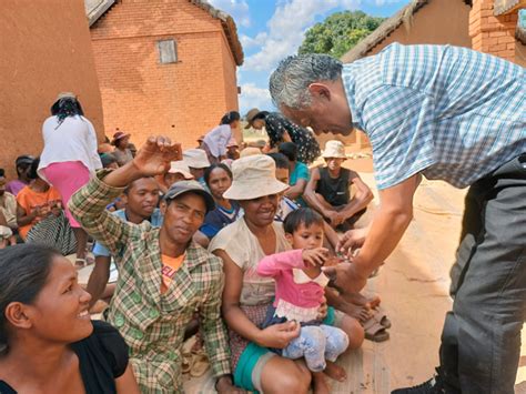
[[[27,243],[45,244],[63,255],[74,253],[77,239],[63,212],[60,193],[38,175],[39,162],[36,159],[28,173],[33,182],[17,195],[19,234]]]

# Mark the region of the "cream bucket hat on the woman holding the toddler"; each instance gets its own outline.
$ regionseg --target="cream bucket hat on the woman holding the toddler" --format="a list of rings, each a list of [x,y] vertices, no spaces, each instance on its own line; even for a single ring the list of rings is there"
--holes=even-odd
[[[232,185],[223,198],[232,200],[253,200],[264,195],[277,194],[289,185],[276,180],[276,165],[265,154],[241,158],[232,163]]]

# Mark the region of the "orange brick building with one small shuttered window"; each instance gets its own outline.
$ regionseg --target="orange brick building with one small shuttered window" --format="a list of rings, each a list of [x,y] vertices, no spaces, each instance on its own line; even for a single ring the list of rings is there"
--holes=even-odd
[[[237,110],[243,51],[233,19],[199,0],[85,0],[104,128],[140,145],[165,133],[193,148]]]

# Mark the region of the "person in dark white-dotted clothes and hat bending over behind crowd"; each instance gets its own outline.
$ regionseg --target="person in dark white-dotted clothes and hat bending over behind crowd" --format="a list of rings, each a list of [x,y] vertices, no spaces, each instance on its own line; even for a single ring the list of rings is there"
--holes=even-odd
[[[311,164],[320,156],[320,144],[314,134],[277,112],[260,111],[253,108],[246,113],[245,120],[247,122],[245,129],[265,128],[271,149],[277,148],[282,142],[294,142],[297,147],[297,160],[302,163]]]

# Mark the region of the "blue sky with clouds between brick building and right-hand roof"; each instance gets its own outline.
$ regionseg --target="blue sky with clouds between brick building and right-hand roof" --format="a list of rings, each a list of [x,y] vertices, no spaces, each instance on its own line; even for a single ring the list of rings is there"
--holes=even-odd
[[[331,13],[362,10],[375,17],[391,17],[409,0],[209,0],[230,13],[245,61],[237,69],[240,111],[272,110],[267,83],[277,62],[297,52],[306,30]]]

